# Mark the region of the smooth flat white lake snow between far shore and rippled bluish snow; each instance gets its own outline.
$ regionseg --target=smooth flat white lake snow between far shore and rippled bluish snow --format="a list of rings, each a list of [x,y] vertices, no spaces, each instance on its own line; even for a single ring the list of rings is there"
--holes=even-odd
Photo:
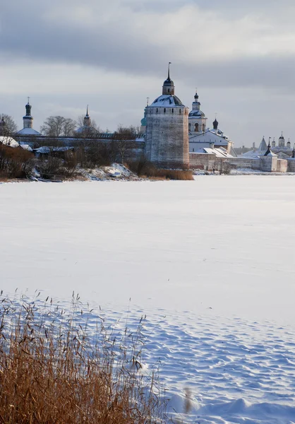
[[[1,286],[295,319],[295,178],[0,185]]]

